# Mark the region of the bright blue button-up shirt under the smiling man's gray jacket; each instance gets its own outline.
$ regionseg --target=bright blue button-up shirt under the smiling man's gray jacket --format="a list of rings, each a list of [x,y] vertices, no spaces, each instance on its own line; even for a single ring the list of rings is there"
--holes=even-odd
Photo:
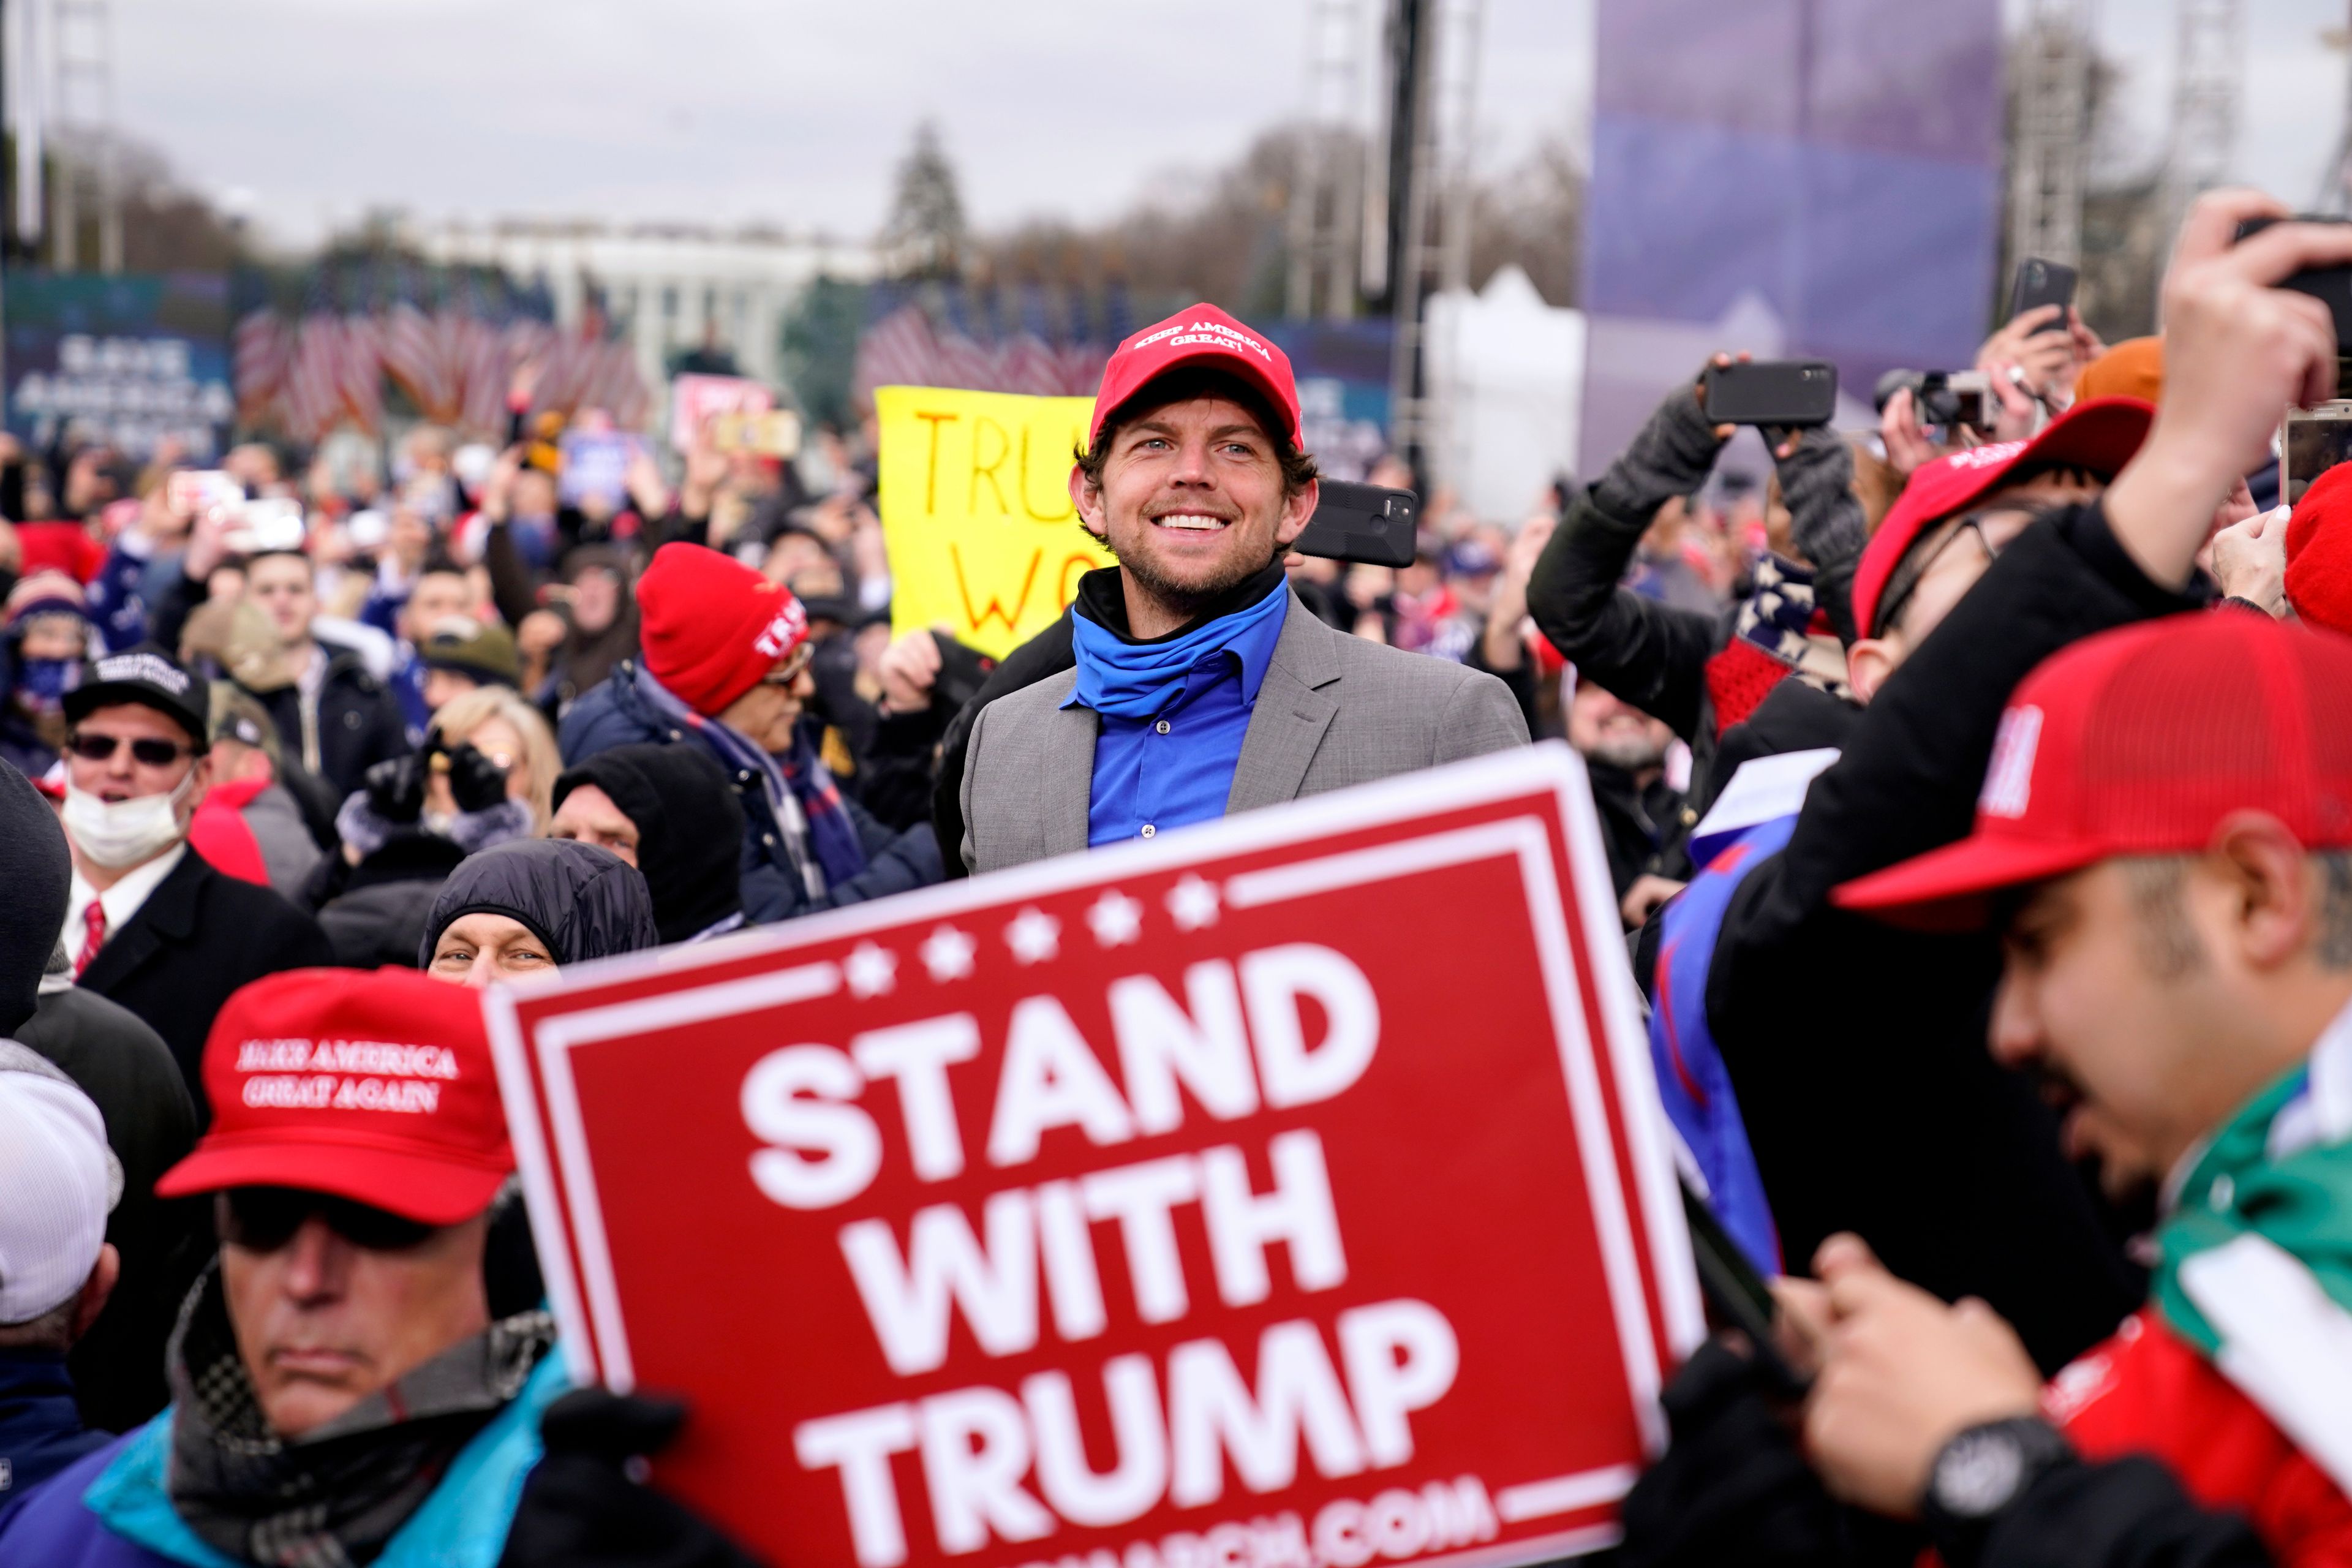
[[[1289,602],[1289,590],[1284,590]],[[1101,715],[1087,844],[1150,839],[1169,827],[1225,816],[1249,712],[1282,642],[1284,616],[1244,623],[1202,654],[1167,705],[1150,717]],[[1063,708],[1082,708],[1073,696]]]

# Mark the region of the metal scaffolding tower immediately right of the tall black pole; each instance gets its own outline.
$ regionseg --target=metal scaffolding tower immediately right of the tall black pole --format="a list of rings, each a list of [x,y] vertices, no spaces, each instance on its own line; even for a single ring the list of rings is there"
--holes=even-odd
[[[1388,421],[1390,447],[1416,468],[1428,465],[1446,477],[1451,463],[1451,343],[1432,343],[1428,303],[1437,289],[1470,287],[1470,150],[1477,129],[1477,56],[1484,21],[1482,0],[1397,0],[1397,12],[1414,16],[1418,28],[1392,28],[1402,35],[1395,71],[1418,75],[1414,92],[1395,101],[1411,106],[1397,115],[1390,134],[1411,136],[1411,155],[1390,160],[1406,169],[1402,193],[1390,195],[1390,209],[1402,205],[1402,228],[1392,230],[1390,313],[1397,327],[1390,350]],[[1397,200],[1402,195],[1402,202]],[[1369,235],[1367,235],[1369,237]]]

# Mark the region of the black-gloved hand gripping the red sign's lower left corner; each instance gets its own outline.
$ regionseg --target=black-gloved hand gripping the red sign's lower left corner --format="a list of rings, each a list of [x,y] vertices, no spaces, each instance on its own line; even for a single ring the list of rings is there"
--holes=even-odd
[[[628,1479],[687,1420],[675,1399],[574,1389],[539,1420],[546,1458],[522,1483],[499,1568],[760,1568],[687,1505]]]

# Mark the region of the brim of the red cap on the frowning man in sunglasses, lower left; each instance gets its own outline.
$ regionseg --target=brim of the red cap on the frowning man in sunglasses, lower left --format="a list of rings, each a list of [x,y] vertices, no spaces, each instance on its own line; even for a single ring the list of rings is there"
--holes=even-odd
[[[268,1135],[207,1138],[195,1154],[155,1180],[155,1197],[176,1199],[226,1187],[299,1187],[369,1204],[419,1225],[459,1225],[489,1208],[508,1171],[468,1166],[414,1150]]]

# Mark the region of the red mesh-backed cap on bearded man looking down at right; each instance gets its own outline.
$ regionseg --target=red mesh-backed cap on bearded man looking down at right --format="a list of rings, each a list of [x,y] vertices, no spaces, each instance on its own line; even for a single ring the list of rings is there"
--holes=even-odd
[[[1832,900],[1900,924],[1983,924],[1994,889],[2192,853],[2244,809],[2305,849],[2352,846],[2352,637],[2239,609],[2145,621],[2018,684],[1966,839]]]

